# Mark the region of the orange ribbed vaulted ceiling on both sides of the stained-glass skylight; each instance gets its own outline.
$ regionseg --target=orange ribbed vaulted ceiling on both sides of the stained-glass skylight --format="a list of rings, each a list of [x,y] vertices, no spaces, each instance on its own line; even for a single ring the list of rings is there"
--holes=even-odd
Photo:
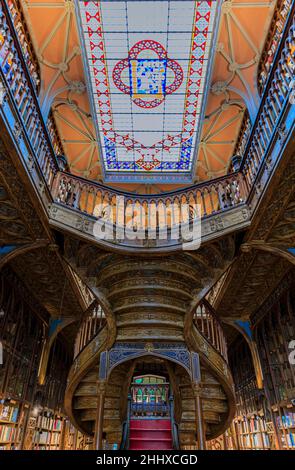
[[[93,121],[96,117],[92,119],[90,111],[77,6],[71,0],[25,0],[21,4],[41,66],[43,111],[53,110],[71,171],[102,181],[104,166]],[[192,175],[195,181],[226,173],[245,109],[252,118],[255,116],[259,103],[257,67],[275,5],[276,1],[270,0],[227,0],[221,5],[206,117]],[[169,189],[171,183],[177,184],[176,180],[167,180],[147,188],[148,182],[146,178],[120,186],[159,192]]]

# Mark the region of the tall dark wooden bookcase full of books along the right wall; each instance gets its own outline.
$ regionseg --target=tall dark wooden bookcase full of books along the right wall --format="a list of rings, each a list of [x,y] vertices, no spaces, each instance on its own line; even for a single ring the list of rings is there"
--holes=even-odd
[[[237,339],[231,346],[237,403],[233,425],[240,449],[295,450],[295,368],[289,362],[288,347],[295,338],[294,277],[289,275],[253,317],[263,390],[257,388],[245,340]]]

